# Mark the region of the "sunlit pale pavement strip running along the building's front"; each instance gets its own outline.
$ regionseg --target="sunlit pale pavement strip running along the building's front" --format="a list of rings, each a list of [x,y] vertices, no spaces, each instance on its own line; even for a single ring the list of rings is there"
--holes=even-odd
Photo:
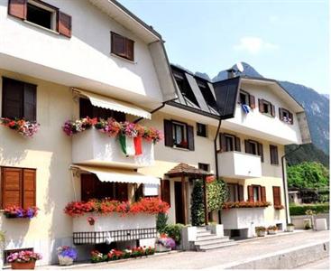
[[[95,265],[70,266],[75,269],[205,269],[228,266],[250,258],[269,256],[295,248],[329,241],[329,231],[304,231],[296,234],[280,235],[274,238],[255,238],[249,242],[239,242],[237,246],[220,248],[207,252],[179,252],[157,257],[133,259]],[[54,269],[56,266],[49,266]],[[48,266],[42,266],[42,269]]]

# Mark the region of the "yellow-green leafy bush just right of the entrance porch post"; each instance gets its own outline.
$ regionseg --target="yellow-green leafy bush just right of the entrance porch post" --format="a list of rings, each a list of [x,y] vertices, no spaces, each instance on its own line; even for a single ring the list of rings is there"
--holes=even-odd
[[[207,208],[208,212],[220,210],[227,200],[228,189],[226,183],[221,179],[207,182]]]

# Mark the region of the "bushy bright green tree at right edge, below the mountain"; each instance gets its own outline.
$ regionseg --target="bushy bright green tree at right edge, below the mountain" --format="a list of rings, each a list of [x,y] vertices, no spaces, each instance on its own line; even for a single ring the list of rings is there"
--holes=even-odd
[[[322,188],[329,185],[329,171],[320,163],[304,162],[297,165],[288,166],[289,187],[302,188]]]

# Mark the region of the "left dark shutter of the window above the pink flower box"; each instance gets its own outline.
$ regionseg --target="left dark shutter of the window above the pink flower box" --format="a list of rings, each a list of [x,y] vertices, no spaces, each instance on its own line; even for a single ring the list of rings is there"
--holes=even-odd
[[[3,79],[2,117],[23,117],[23,82]]]

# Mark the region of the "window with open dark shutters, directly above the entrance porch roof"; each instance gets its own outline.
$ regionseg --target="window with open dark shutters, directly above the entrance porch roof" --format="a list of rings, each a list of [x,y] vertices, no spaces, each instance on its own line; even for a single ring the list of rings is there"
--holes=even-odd
[[[164,144],[194,151],[194,129],[175,120],[164,120]]]

